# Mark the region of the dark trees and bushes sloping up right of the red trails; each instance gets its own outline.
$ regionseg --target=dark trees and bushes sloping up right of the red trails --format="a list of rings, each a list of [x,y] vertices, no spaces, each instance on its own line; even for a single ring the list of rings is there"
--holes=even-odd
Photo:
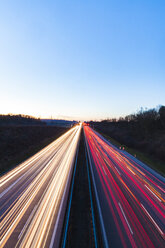
[[[165,161],[165,106],[91,124],[122,144]]]

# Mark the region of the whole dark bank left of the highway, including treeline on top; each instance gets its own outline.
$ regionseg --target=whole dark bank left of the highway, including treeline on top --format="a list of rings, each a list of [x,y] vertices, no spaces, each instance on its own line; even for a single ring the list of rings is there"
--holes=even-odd
[[[68,128],[24,115],[0,115],[0,174],[34,155]]]

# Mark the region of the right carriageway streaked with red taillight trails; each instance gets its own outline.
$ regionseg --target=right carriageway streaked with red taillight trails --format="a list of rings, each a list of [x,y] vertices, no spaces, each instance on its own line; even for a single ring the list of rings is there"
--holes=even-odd
[[[84,125],[105,247],[165,247],[165,179]]]

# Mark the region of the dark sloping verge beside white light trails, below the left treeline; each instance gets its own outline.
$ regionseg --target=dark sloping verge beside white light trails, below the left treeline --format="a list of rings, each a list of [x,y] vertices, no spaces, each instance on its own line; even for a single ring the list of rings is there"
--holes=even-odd
[[[23,128],[23,130],[21,130]],[[14,130],[12,130],[14,129]],[[51,142],[67,132],[68,128],[52,127],[7,127],[0,143],[0,175],[30,158]],[[1,136],[2,137],[2,136]]]

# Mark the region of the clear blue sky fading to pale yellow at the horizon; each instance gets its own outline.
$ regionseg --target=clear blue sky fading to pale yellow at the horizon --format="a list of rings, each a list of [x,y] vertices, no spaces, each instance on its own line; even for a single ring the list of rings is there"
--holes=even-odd
[[[0,113],[100,120],[165,105],[164,0],[1,0]]]

